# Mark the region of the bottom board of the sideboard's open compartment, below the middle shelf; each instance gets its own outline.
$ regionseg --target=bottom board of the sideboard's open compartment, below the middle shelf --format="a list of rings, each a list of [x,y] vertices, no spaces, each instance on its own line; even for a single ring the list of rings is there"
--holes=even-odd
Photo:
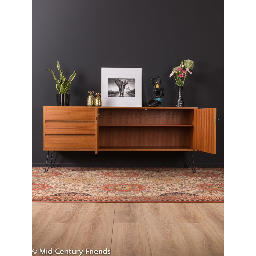
[[[106,146],[99,147],[99,151],[196,151],[190,147],[143,147],[143,146]]]

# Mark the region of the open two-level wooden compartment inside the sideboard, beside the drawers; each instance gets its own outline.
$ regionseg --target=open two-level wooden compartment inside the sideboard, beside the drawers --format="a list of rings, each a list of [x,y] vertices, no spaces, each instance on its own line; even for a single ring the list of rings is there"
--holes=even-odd
[[[99,150],[193,150],[193,109],[100,109]]]

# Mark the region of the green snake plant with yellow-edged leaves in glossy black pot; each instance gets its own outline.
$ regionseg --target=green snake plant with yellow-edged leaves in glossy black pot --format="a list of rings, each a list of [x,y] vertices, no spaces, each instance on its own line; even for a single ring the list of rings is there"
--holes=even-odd
[[[68,81],[63,75],[62,68],[60,68],[60,63],[57,60],[57,68],[60,72],[60,81],[56,78],[53,71],[48,68],[48,70],[52,73],[53,78],[56,82],[56,89],[59,93],[57,93],[57,106],[69,106],[69,94],[68,90],[70,89],[71,81],[76,76],[76,70],[73,72],[73,74],[69,77]]]

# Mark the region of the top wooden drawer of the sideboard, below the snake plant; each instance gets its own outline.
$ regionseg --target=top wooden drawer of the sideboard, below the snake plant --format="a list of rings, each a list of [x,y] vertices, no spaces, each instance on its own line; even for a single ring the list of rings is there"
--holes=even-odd
[[[94,108],[45,108],[45,121],[95,121]]]

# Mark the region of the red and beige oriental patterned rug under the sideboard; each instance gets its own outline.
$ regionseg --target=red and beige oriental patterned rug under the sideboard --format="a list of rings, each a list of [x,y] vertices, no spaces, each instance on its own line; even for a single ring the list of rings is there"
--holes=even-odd
[[[223,202],[224,168],[32,168],[33,202]]]

